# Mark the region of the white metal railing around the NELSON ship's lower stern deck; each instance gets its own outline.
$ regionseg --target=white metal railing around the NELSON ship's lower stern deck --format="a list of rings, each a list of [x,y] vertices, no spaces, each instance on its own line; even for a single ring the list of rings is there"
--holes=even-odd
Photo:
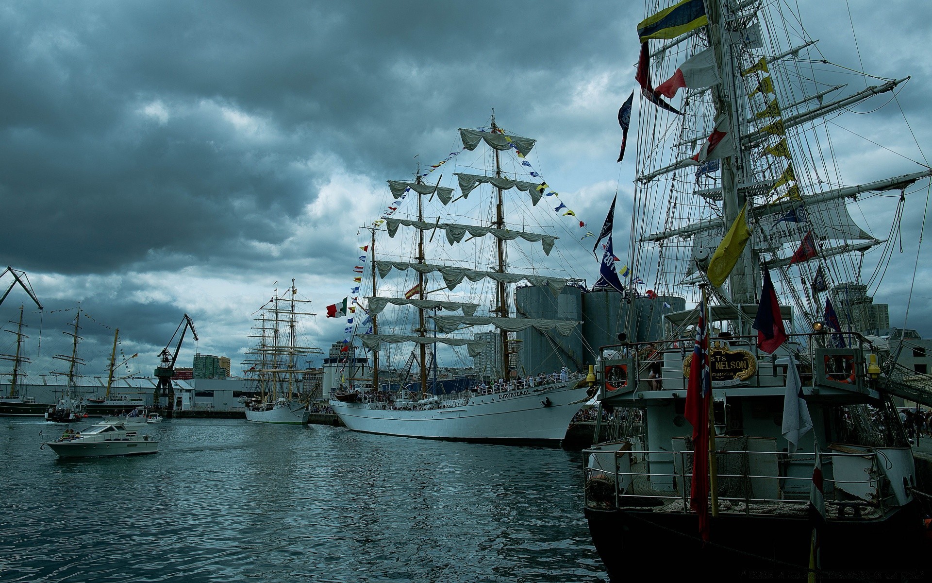
[[[614,448],[614,449],[613,449]],[[665,512],[691,512],[692,451],[638,451],[616,442],[583,450],[585,505],[595,510],[653,507]],[[736,458],[736,463],[730,463]],[[728,513],[796,516],[810,504],[815,454],[785,451],[718,451],[716,473],[720,511]],[[758,471],[723,469],[748,465]],[[823,493],[829,518],[870,518],[884,513],[884,482],[878,453],[821,452]],[[846,463],[850,460],[852,463]],[[649,468],[653,466],[654,471]],[[841,466],[837,468],[836,466]],[[774,468],[775,473],[761,472]],[[788,469],[796,475],[788,475]],[[861,479],[860,476],[865,478]],[[895,503],[894,503],[895,504]],[[848,511],[852,516],[848,516]]]

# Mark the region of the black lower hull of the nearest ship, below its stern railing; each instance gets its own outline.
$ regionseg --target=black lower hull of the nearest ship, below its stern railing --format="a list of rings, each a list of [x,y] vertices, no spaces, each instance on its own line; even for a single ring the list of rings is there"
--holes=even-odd
[[[612,583],[631,578],[632,561],[662,565],[658,573],[671,580],[699,572],[720,580],[806,579],[812,522],[805,518],[720,515],[709,519],[704,544],[692,513],[585,508],[585,516]],[[829,521],[821,541],[819,580],[924,580],[921,572],[932,574],[917,562],[925,561],[932,540],[925,538],[916,503],[881,520]]]

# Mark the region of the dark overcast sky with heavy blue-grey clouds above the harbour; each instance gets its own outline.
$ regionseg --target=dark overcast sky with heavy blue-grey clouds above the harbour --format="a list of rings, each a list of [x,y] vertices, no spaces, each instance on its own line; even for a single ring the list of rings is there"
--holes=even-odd
[[[846,182],[917,171],[907,159],[922,161],[915,142],[929,144],[932,3],[800,4],[830,61],[912,76],[898,104],[837,120],[897,152],[840,132]],[[539,140],[548,183],[597,229],[616,189],[631,191],[633,164],[615,163],[616,116],[635,85],[642,18],[638,3],[600,0],[5,2],[0,264],[28,273],[46,313],[17,290],[0,320],[26,302],[39,374],[74,317],[53,311],[80,301],[100,323],[82,330],[85,373],[104,372],[105,326],[118,326],[123,351],[140,353],[133,367],[151,374],[187,312],[199,352],[237,370],[250,314],[274,283],[295,278],[319,313],[343,298],[365,243],[357,228],[388,200],[384,181],[408,178],[416,155],[443,159],[457,128],[487,124],[493,108]],[[888,101],[874,99],[856,109]],[[907,201],[903,254],[874,292],[893,326],[924,207],[921,188]],[[627,217],[619,208],[616,239]],[[884,237],[889,224],[870,228]],[[932,335],[921,267],[909,327]],[[596,275],[593,261],[590,284]],[[344,325],[318,316],[311,340],[325,349]],[[178,366],[194,350],[185,340]]]

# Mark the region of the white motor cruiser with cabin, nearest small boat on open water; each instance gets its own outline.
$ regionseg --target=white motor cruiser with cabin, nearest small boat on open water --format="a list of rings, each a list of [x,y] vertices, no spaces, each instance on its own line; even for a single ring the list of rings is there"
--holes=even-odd
[[[112,457],[158,453],[158,439],[139,435],[126,423],[103,421],[76,431],[65,429],[62,437],[42,444],[59,457]]]

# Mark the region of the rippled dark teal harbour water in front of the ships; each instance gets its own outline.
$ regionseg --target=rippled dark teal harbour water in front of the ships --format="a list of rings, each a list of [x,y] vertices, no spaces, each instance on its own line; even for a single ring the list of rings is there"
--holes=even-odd
[[[578,451],[171,420],[155,455],[62,462],[63,427],[0,418],[0,581],[608,578]]]

